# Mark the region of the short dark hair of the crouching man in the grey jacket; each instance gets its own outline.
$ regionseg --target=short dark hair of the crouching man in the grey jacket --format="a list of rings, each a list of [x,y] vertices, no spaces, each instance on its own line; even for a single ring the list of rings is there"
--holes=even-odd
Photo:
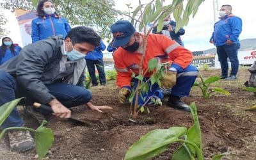
[[[71,39],[72,44],[86,42],[95,46],[100,45],[100,36],[92,28],[86,26],[70,29],[65,39],[68,37]]]

